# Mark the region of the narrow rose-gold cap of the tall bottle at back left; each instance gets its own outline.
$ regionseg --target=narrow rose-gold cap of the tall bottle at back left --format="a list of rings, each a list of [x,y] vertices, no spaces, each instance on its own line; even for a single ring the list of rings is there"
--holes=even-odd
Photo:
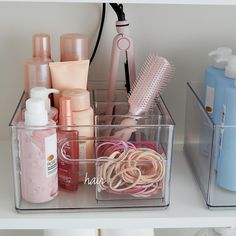
[[[33,35],[33,57],[40,57],[48,62],[52,61],[50,36],[48,34]]]

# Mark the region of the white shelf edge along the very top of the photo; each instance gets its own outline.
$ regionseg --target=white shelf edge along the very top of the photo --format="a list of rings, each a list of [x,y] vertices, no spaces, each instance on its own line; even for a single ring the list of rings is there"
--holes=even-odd
[[[117,2],[116,0],[0,0],[0,2],[83,2],[103,3]],[[187,4],[187,5],[236,5],[236,0],[120,0],[119,3],[145,4]]]

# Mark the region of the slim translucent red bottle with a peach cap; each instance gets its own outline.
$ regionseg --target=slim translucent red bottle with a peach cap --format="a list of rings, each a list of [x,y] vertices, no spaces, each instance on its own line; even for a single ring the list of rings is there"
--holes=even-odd
[[[57,133],[58,182],[61,188],[76,191],[79,178],[79,132],[70,127],[73,124],[70,98],[60,98],[59,123],[61,127]]]

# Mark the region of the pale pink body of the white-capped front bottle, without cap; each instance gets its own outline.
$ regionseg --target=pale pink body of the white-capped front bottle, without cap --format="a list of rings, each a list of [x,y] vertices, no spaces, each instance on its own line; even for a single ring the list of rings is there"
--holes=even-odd
[[[24,200],[48,202],[58,193],[55,129],[19,130],[21,191]]]

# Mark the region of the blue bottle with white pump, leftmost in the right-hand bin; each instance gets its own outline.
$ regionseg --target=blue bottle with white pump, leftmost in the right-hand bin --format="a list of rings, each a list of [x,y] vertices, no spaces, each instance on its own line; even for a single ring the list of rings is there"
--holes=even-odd
[[[208,55],[213,57],[214,62],[213,65],[208,66],[205,70],[203,105],[213,122],[217,124],[220,123],[221,120],[224,87],[229,86],[230,82],[232,82],[231,79],[228,81],[224,75],[224,69],[229,57],[232,55],[232,49],[220,47],[210,52]],[[203,128],[200,134],[200,149],[204,156],[209,157],[212,146],[212,126],[206,117],[203,117],[203,119]],[[216,129],[216,143],[219,143],[219,135],[219,130]],[[214,153],[217,163],[218,148],[214,150]]]

